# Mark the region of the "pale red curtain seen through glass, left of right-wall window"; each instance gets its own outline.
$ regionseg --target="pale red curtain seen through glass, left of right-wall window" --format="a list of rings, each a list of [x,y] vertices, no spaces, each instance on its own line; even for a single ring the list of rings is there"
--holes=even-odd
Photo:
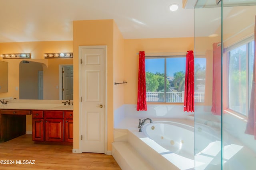
[[[212,113],[221,115],[221,43],[214,43],[212,47]]]

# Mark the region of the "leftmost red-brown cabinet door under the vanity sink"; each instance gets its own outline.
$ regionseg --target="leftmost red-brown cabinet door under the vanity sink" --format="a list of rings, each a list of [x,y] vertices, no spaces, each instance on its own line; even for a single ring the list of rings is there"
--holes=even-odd
[[[32,119],[32,140],[44,141],[44,119]]]

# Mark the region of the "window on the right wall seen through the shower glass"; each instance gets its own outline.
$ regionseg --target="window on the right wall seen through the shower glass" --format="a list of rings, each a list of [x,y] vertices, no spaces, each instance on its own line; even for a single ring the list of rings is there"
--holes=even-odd
[[[254,41],[229,51],[229,109],[247,116],[252,90]]]

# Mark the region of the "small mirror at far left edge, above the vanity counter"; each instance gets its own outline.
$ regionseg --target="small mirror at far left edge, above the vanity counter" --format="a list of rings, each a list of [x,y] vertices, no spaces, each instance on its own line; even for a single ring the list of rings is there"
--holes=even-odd
[[[0,61],[0,93],[8,92],[8,63]]]

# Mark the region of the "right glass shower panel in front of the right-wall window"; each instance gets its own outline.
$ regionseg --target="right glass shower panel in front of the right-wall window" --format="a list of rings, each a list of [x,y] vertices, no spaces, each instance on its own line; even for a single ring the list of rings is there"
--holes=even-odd
[[[256,139],[245,131],[251,119],[248,113],[255,74],[256,1],[223,0],[222,3],[222,169],[255,170]]]

